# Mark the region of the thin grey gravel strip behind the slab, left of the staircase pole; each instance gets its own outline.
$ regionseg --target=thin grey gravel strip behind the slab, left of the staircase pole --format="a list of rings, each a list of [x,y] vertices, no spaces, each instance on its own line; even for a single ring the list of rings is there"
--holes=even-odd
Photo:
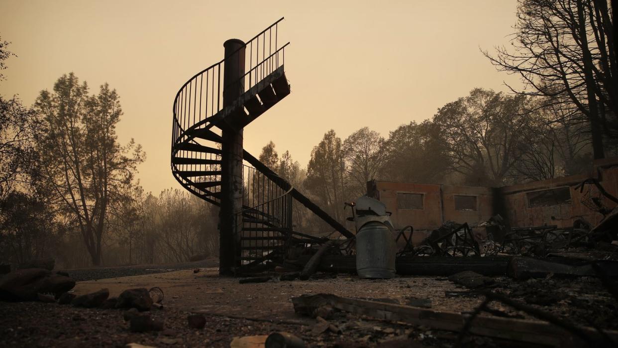
[[[90,281],[97,279],[141,276],[143,274],[165,273],[182,269],[207,268],[219,265],[218,260],[206,259],[187,263],[171,263],[166,265],[131,265],[117,267],[57,269],[69,273],[75,281]]]

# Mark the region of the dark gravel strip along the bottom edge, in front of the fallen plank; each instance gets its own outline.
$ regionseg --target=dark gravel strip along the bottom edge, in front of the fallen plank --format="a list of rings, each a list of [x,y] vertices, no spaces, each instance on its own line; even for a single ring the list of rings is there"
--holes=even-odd
[[[0,310],[0,347],[125,347],[138,343],[153,347],[231,347],[234,337],[261,336],[273,332],[292,333],[307,347],[454,347],[457,336],[404,323],[370,320],[362,316],[338,313],[342,334],[312,333],[313,325],[269,323],[268,321],[205,315],[206,326],[192,329],[187,325],[189,312],[176,308],[153,310],[151,316],[163,320],[163,331],[132,333],[122,318],[122,310],[75,308],[57,303],[2,303]],[[464,347],[498,347],[485,337],[467,337]],[[511,342],[512,346],[512,342]],[[256,346],[235,346],[256,347]],[[524,347],[524,346],[522,346]],[[525,347],[535,347],[525,344]]]

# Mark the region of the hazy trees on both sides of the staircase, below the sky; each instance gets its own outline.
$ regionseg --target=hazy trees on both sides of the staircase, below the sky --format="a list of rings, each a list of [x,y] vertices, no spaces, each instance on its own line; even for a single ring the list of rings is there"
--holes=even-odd
[[[342,223],[371,179],[497,187],[580,174],[618,153],[615,9],[607,0],[519,0],[509,48],[483,51],[524,85],[475,88],[382,137],[328,130],[306,168],[275,144],[260,160]],[[0,40],[0,80],[12,54]],[[186,261],[218,252],[217,208],[185,190],[143,192],[140,145],[121,144],[116,91],[74,74],[32,107],[0,96],[0,262],[66,267]],[[300,205],[295,229],[325,231]]]

